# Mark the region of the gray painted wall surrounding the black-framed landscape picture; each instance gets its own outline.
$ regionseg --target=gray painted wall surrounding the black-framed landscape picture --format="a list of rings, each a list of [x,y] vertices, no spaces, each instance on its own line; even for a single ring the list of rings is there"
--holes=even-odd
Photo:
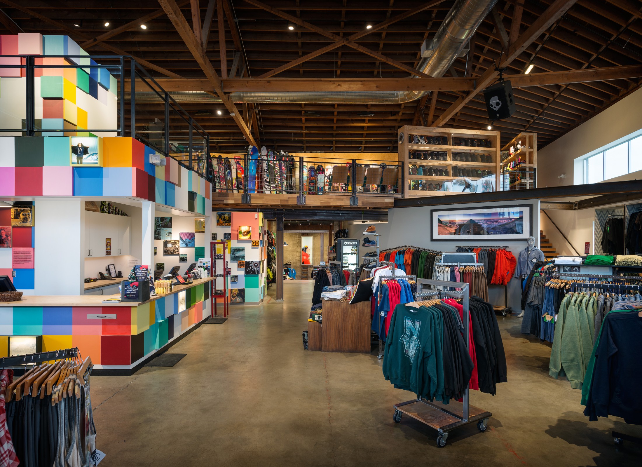
[[[454,242],[433,242],[430,235],[430,211],[431,209],[456,209],[460,207],[499,207],[515,206],[516,204],[533,205],[533,236],[535,244],[539,247],[539,200],[524,200],[523,202],[503,203],[466,203],[466,204],[444,204],[442,206],[426,207],[397,207],[388,209],[388,223],[376,224],[377,232],[381,234],[379,244],[381,248],[392,248],[401,245],[415,245],[417,247],[429,248],[438,251],[455,251],[456,245],[507,245],[508,250],[517,256],[526,248],[525,240],[503,240],[496,243],[474,242],[473,240],[458,240]],[[504,304],[504,288],[499,285],[489,287],[490,302],[496,305]],[[508,283],[508,305],[513,310],[521,308],[521,286],[517,279]]]

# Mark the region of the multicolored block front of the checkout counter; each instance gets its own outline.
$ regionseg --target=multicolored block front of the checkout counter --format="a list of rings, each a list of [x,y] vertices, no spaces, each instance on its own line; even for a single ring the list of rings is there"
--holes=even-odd
[[[0,306],[0,357],[10,335],[42,335],[42,350],[78,347],[98,368],[130,367],[209,317],[209,283],[141,306]],[[93,319],[92,315],[116,315]]]

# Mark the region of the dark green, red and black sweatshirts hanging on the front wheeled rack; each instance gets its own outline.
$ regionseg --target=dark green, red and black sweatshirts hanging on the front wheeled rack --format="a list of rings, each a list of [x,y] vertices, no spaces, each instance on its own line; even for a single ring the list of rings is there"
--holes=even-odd
[[[392,315],[391,320],[386,319],[390,326],[384,336],[388,337],[383,357],[386,380],[397,389],[444,404],[462,398],[467,387],[494,395],[496,384],[507,381],[497,319],[492,305],[479,297],[471,297],[469,308],[468,349],[460,301],[399,303],[386,312],[386,318]],[[412,346],[410,339],[416,342]]]

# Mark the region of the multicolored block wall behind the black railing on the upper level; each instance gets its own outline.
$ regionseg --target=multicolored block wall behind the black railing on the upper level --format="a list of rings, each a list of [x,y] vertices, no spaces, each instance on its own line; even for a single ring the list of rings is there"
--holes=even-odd
[[[35,65],[98,65],[64,35],[0,35],[0,55],[41,55]],[[52,57],[79,55],[78,58]],[[0,57],[0,125],[22,128],[26,118],[26,78],[21,57]],[[90,136],[82,130],[117,128],[117,80],[106,68],[35,68],[35,119],[43,136]],[[46,130],[65,130],[47,132]]]

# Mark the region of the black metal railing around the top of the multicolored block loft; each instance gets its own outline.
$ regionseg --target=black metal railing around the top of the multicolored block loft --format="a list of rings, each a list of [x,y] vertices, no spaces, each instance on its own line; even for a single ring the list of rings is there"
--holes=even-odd
[[[209,157],[207,132],[134,58],[114,55],[3,55],[2,57],[17,59],[15,64],[1,64],[0,68],[21,70],[16,77],[26,78],[26,100],[24,109],[3,109],[5,128],[0,128],[0,132],[21,136],[86,136],[91,133],[94,136],[135,137],[157,152],[173,157],[186,168],[212,181],[213,170]],[[59,64],[44,63],[44,61],[55,61],[49,59],[56,58],[63,60]],[[90,60],[89,64],[81,64],[87,60]],[[96,60],[116,60],[117,63],[102,65],[96,63]],[[4,61],[11,62],[11,60]],[[105,128],[104,125],[101,128],[79,128],[78,125],[72,125],[69,122],[64,122],[60,128],[57,118],[37,119],[35,78],[42,75],[58,76],[48,73],[46,70],[49,69],[62,70],[60,76],[63,76],[64,70],[67,69],[74,69],[76,73],[78,73],[77,70],[82,70],[90,76],[91,70],[107,69],[109,74],[116,78],[118,85],[116,93],[108,91],[116,96],[117,128]],[[128,93],[126,93],[127,79],[130,85]],[[73,91],[75,92],[75,89]],[[137,93],[144,93],[144,101],[136,101]],[[6,123],[12,119],[15,125]],[[56,120],[55,126],[51,125],[51,120]],[[96,119],[90,118],[90,121],[96,121]],[[20,128],[17,128],[18,124]],[[13,128],[7,128],[7,126],[13,126]]]

